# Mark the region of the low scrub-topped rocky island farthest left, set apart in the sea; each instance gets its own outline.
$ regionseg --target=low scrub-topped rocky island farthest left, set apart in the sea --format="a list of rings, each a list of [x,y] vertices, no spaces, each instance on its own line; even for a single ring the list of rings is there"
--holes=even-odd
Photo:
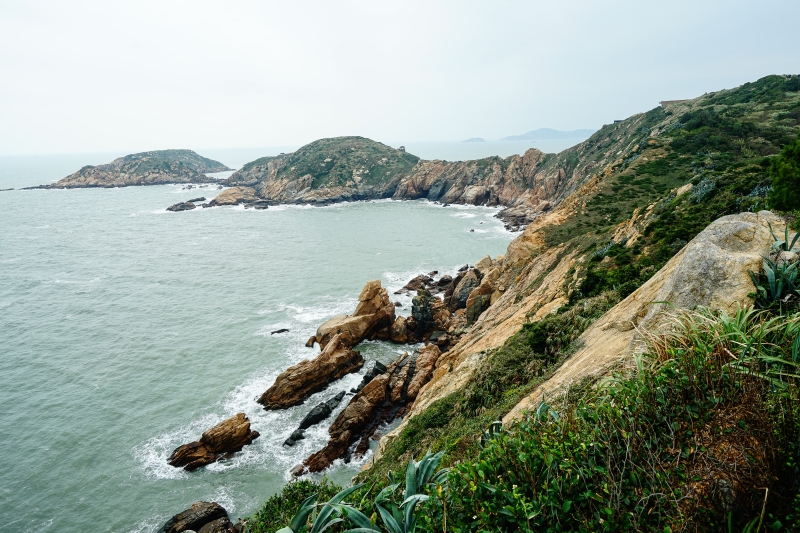
[[[231,170],[219,161],[202,157],[191,150],[156,150],[126,155],[111,163],[85,166],[45,189],[81,187],[126,187],[164,183],[207,183],[205,174]]]

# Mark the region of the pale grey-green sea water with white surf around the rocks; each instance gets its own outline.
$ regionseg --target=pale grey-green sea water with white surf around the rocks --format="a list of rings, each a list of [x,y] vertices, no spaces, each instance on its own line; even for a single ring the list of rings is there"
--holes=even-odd
[[[0,188],[114,155],[0,158]],[[495,209],[426,201],[165,211],[217,193],[0,192],[0,531],[152,532],[198,500],[248,516],[324,446],[333,417],[282,446],[302,417],[361,379],[286,411],[255,403],[318,352],[304,347],[317,326],[352,312],[369,280],[391,293],[419,273],[504,253],[513,238]],[[392,298],[409,313],[410,296]],[[359,349],[391,361],[412,348]],[[174,448],[238,412],[261,433],[253,445],[191,473],[167,465]],[[328,475],[346,483],[364,460]]]

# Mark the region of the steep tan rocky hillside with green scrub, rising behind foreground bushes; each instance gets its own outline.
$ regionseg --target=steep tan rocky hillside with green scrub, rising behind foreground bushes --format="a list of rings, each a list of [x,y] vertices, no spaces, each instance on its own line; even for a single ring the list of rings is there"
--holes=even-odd
[[[453,439],[468,449],[474,438],[458,441],[459,428],[510,422],[545,392],[607,370],[631,353],[637,328],[655,323],[653,301],[752,303],[748,270],[769,251],[768,223],[780,232],[785,222],[751,211],[769,192],[771,155],[800,133],[797,109],[800,78],[769,76],[605,126],[567,151],[575,159],[560,177],[551,161],[566,153],[523,165],[550,177],[555,207],[484,267],[485,286],[468,297],[482,304],[474,324],[370,464],[396,467]],[[519,375],[486,385],[508,364]],[[447,422],[420,433],[415,424],[427,422],[412,421],[431,408],[425,420]]]

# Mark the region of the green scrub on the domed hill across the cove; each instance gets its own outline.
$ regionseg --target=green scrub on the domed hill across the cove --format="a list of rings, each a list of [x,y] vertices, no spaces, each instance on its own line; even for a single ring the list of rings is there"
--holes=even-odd
[[[383,184],[409,172],[419,158],[364,137],[320,139],[285,156],[280,179],[313,178],[313,187]]]

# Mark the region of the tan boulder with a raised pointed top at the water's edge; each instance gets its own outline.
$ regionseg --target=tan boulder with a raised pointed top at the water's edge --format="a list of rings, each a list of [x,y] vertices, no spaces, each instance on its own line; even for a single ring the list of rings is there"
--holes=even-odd
[[[317,342],[323,348],[335,336],[342,342],[355,346],[364,339],[387,340],[394,323],[394,304],[389,293],[381,287],[380,280],[368,282],[358,297],[358,306],[352,315],[337,315],[317,328]]]

